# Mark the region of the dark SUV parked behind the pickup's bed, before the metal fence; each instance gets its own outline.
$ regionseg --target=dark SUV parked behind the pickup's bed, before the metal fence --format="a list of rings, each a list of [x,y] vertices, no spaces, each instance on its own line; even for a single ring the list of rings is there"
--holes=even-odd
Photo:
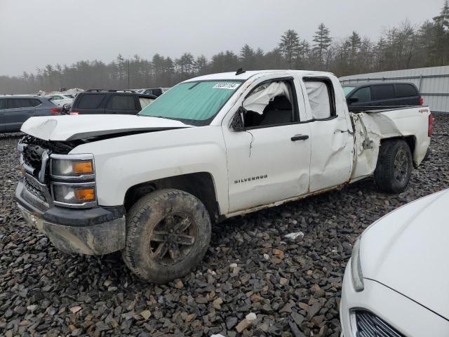
[[[357,107],[397,107],[423,105],[420,91],[413,83],[353,83],[343,84],[349,110]]]

